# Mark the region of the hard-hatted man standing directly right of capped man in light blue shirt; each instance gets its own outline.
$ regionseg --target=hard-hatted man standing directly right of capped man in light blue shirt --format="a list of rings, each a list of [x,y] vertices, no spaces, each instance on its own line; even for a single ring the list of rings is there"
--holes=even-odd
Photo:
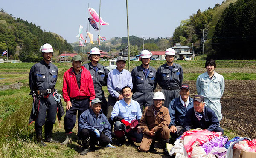
[[[153,104],[153,92],[157,86],[157,70],[149,65],[150,59],[151,52],[143,50],[140,52],[142,64],[131,71],[134,93],[132,98],[140,104],[142,112],[145,107]]]

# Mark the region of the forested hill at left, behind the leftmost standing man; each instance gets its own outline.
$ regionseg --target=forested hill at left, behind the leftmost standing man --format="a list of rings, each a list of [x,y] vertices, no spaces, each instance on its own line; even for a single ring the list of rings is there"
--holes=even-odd
[[[0,52],[9,49],[10,59],[20,59],[23,62],[41,60],[40,46],[49,43],[54,49],[54,55],[61,52],[73,52],[72,46],[57,34],[43,31],[40,26],[15,18],[0,11]]]

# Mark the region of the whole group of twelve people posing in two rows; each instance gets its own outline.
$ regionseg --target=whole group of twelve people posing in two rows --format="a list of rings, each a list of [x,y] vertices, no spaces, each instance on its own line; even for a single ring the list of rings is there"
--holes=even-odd
[[[50,44],[41,47],[43,60],[32,66],[29,73],[30,95],[33,108],[29,124],[35,121],[37,142],[46,146],[52,139],[52,128],[56,114],[64,115],[61,95],[55,90],[58,68],[51,63],[53,49]],[[163,151],[168,155],[166,143],[170,136],[179,137],[183,132],[201,128],[222,132],[219,127],[221,115],[220,98],[224,92],[224,78],[215,72],[214,60],[207,60],[207,72],[197,78],[197,92],[189,96],[189,85],[182,84],[183,69],[174,63],[175,50],[166,49],[166,63],[156,70],[150,66],[151,52],[140,53],[142,64],[131,72],[125,70],[126,60],[119,56],[116,69],[108,70],[99,64],[100,50],[90,50],[90,63],[82,65],[82,57],[72,58],[72,67],[63,76],[63,98],[66,104],[64,129],[66,139],[62,145],[72,141],[72,130],[78,118],[81,155],[97,146],[112,147],[112,136],[122,146],[126,138],[130,144],[140,143],[141,152],[154,151],[154,142],[163,141]],[[154,90],[158,85],[159,92]],[[105,99],[102,86],[107,86],[109,96]],[[77,115],[77,116],[76,116]],[[112,132],[114,131],[114,132]]]

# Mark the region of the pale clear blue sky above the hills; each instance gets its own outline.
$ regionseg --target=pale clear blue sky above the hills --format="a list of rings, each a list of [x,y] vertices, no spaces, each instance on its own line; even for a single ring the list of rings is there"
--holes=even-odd
[[[88,28],[88,6],[99,14],[100,0],[0,0],[8,14],[41,26],[42,30],[61,35],[69,43],[78,41],[79,25]],[[182,20],[198,9],[221,4],[223,0],[128,0],[129,35],[145,38],[171,37]],[[91,16],[90,16],[91,17]],[[101,0],[100,17],[109,23],[100,26],[107,40],[127,37],[126,0]],[[99,23],[97,23],[99,25]],[[89,29],[88,29],[89,31]],[[96,40],[98,32],[90,26]]]

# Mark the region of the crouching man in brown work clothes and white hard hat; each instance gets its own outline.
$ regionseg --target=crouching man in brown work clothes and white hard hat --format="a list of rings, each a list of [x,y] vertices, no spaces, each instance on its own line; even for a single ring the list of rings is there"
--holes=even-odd
[[[170,130],[170,115],[166,107],[163,106],[165,101],[162,92],[156,92],[153,96],[154,104],[144,109],[140,119],[140,126],[144,133],[141,141],[140,151],[154,151],[154,141],[158,138],[163,140],[165,155],[169,155],[166,143],[169,143]]]

